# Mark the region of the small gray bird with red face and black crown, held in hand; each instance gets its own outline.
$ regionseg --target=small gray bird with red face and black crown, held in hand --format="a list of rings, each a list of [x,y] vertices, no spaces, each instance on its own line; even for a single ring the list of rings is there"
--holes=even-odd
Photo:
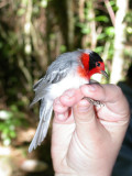
[[[40,122],[30,144],[29,153],[41,145],[47,134],[54,100],[67,89],[77,89],[89,84],[94,74],[102,74],[108,77],[102,58],[88,48],[61,54],[47,67],[45,76],[33,86],[35,97],[30,107],[33,107],[37,101],[41,101],[41,106]]]

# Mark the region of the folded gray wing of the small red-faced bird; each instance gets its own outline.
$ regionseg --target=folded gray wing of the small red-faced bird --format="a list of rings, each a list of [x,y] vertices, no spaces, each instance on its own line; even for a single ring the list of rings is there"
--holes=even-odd
[[[77,65],[77,62],[72,59],[70,53],[69,56],[65,54],[58,56],[58,58],[48,66],[46,75],[34,85],[33,89],[35,91],[35,97],[30,107],[44,98],[48,90],[48,86],[56,84],[66,77],[72,66],[75,64]]]

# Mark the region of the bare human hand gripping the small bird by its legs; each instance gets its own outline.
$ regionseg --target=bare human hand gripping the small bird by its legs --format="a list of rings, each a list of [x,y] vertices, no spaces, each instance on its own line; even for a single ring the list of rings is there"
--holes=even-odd
[[[95,108],[84,97],[103,106]],[[67,90],[54,101],[54,112],[55,176],[110,176],[130,119],[121,89],[92,84]]]

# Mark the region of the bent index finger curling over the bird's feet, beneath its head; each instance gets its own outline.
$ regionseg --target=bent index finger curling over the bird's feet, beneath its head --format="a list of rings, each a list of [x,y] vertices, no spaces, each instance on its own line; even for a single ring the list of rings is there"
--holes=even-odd
[[[129,105],[122,90],[116,85],[85,85],[80,88],[85,97],[96,99],[106,105],[106,107],[121,120],[129,117]],[[103,107],[103,109],[106,109]],[[128,113],[128,114],[127,114]],[[112,117],[112,114],[111,114]]]

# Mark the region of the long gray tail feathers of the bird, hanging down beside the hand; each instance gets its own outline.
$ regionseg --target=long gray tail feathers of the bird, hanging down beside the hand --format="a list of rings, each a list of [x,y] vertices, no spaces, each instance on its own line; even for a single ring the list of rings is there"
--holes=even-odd
[[[53,111],[53,102],[45,101],[42,99],[40,107],[40,122],[35,132],[35,135],[30,144],[29,152],[31,153],[36,148],[37,145],[41,145],[43,140],[45,139],[50,125],[50,121],[52,118]]]

